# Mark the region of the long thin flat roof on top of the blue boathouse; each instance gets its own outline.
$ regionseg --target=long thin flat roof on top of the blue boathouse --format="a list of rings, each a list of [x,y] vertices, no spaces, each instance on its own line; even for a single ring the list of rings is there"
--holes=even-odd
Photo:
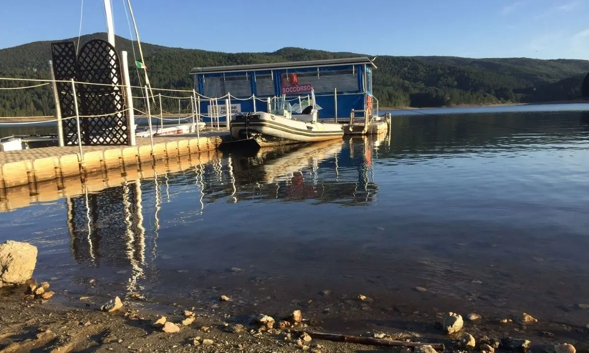
[[[249,65],[227,65],[227,66],[210,66],[207,68],[193,68],[190,70],[191,75],[196,74],[215,74],[219,72],[236,72],[236,71],[256,71],[256,70],[270,70],[270,69],[290,69],[290,68],[306,68],[313,66],[335,66],[346,64],[368,64],[376,69],[376,65],[370,61],[366,56],[358,58],[343,58],[343,59],[325,59],[325,60],[309,60],[309,61],[289,61],[289,62],[269,62],[266,64],[249,64]]]

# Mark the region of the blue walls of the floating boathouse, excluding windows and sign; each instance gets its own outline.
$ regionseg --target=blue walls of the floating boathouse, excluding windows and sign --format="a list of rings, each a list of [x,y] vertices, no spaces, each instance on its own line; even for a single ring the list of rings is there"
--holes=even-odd
[[[366,104],[366,94],[372,94],[372,71],[368,65],[365,64],[358,64],[358,65],[337,65],[337,66],[313,66],[310,68],[292,68],[292,69],[272,69],[272,70],[260,70],[260,71],[249,71],[249,72],[216,72],[214,74],[197,74],[195,79],[194,89],[202,95],[204,95],[204,83],[207,78],[230,78],[235,76],[247,75],[249,78],[249,82],[252,88],[252,92],[256,95],[256,98],[266,99],[268,97],[273,96],[280,96],[281,95],[281,87],[282,87],[282,77],[283,74],[300,74],[300,73],[309,73],[309,72],[317,72],[319,75],[322,72],[327,71],[339,71],[339,70],[352,70],[358,76],[358,89],[354,91],[340,91],[337,88],[337,116],[339,118],[349,116],[350,111],[352,109],[364,109]],[[257,94],[257,87],[256,87],[256,78],[254,75],[272,75],[272,80],[274,83],[274,94],[273,95],[259,95]],[[286,95],[287,99],[294,98],[298,95],[306,96],[310,94],[305,92],[301,94],[289,94]],[[237,97],[237,98],[247,98],[247,97]],[[331,92],[315,92],[315,98],[317,100],[317,104],[321,106],[322,109],[319,111],[319,118],[333,118],[335,112],[335,105],[334,105],[334,95],[333,95],[333,88]],[[295,101],[292,101],[291,104],[295,104]],[[253,109],[253,100],[246,99],[231,99],[231,105],[240,104],[241,105],[241,112],[252,112]],[[224,99],[219,100],[219,106],[225,105]],[[200,102],[200,109],[201,114],[209,114],[209,101],[201,100]],[[267,103],[265,101],[260,101],[256,99],[256,111],[267,111]],[[358,116],[358,115],[357,115]],[[360,114],[361,116],[361,114]],[[203,121],[210,122],[210,118],[207,116],[203,116]],[[223,117],[221,117],[221,121],[223,121]]]

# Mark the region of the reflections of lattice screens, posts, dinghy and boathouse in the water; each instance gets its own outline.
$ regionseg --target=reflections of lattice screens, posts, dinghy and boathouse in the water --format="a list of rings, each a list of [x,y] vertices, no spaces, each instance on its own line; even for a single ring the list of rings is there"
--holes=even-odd
[[[65,201],[72,258],[78,265],[110,268],[125,277],[127,294],[141,293],[142,280],[158,277],[162,222],[198,221],[206,217],[207,204],[219,201],[366,205],[378,192],[372,155],[384,138],[236,153],[181,172],[154,171],[153,178],[125,180],[98,192],[83,185],[80,195]]]

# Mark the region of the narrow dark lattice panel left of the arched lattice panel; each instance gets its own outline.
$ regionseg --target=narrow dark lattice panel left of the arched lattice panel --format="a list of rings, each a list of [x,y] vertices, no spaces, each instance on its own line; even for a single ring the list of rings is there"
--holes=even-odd
[[[52,43],[51,58],[56,81],[76,79],[78,61],[74,42]],[[55,84],[59,97],[59,108],[61,108],[64,143],[65,145],[77,145],[76,122],[75,118],[71,119],[72,116],[75,116],[71,84],[67,82],[56,82]]]

